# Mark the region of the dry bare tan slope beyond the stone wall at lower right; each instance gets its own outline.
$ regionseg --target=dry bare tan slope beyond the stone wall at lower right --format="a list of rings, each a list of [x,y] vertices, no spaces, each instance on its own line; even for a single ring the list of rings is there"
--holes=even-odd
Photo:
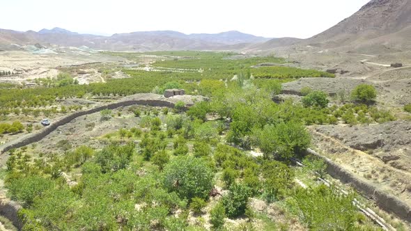
[[[383,126],[384,127],[380,128],[370,127],[368,130],[364,127],[353,127],[352,129],[335,127],[334,130],[332,126],[313,126],[309,127],[309,130],[313,136],[313,148],[318,150],[320,154],[332,159],[335,163],[340,164],[343,168],[346,168],[360,179],[365,180],[370,184],[378,185],[383,191],[386,191],[389,194],[400,198],[408,205],[411,205],[411,172],[408,166],[406,166],[411,158],[408,154],[404,153],[405,149],[408,150],[409,145],[407,143],[409,143],[410,139],[407,139],[407,136],[400,138],[401,134],[398,134],[397,136],[398,131],[396,131],[395,126],[401,127],[401,125],[391,125],[393,127],[392,130],[387,129],[389,125]],[[341,132],[341,134],[340,131],[344,129],[346,129],[345,132]],[[371,133],[370,129],[373,129],[374,131],[379,130],[380,133]],[[385,132],[382,132],[384,130]],[[328,131],[331,134],[325,131]],[[351,134],[349,135],[350,132]],[[338,138],[334,136],[337,136]],[[343,138],[346,136],[346,139]],[[362,139],[361,136],[364,136],[364,139]],[[382,140],[386,140],[387,143],[378,141],[379,136],[382,136]],[[400,141],[395,141],[396,138],[399,138]],[[356,139],[359,141],[355,141]],[[375,147],[375,154],[369,154],[373,153],[369,150],[369,153],[366,153],[350,147],[350,144],[353,145],[353,147],[356,147],[354,143],[357,143],[358,145],[361,141],[364,141],[362,145],[367,147],[370,143],[369,140],[371,139],[375,139],[376,141],[375,144],[369,146]],[[385,144],[386,148],[391,147],[392,150],[388,153],[385,152],[383,148],[382,150],[378,150],[379,143]],[[397,143],[397,145],[393,145],[393,143]],[[401,161],[396,159],[397,161],[394,162],[394,157],[399,157]],[[386,162],[382,161],[383,158],[385,158]],[[391,161],[387,161],[388,159],[391,159]],[[399,166],[395,163],[399,164]],[[403,168],[405,168],[405,170]]]

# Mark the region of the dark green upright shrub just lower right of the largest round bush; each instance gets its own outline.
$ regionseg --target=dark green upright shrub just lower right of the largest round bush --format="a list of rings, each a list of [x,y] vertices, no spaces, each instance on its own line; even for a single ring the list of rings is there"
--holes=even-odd
[[[235,218],[245,214],[251,189],[245,184],[233,184],[230,191],[222,198],[226,214],[229,218]]]

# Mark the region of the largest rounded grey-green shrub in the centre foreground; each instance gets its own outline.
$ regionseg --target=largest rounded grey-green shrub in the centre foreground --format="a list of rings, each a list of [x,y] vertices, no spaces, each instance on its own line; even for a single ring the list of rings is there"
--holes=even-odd
[[[208,198],[212,189],[212,170],[202,159],[176,157],[164,168],[163,183],[169,191],[175,191],[180,198]]]

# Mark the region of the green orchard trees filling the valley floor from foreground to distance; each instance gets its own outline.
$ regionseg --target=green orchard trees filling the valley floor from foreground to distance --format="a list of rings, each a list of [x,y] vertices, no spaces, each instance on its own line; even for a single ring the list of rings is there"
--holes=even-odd
[[[311,145],[306,125],[394,120],[389,112],[357,103],[329,106],[327,95],[315,91],[302,104],[276,104],[272,95],[281,91],[281,82],[303,76],[254,79],[249,67],[284,62],[278,58],[238,60],[226,53],[197,51],[153,54],[171,56],[154,65],[204,72],[125,70],[132,78],[88,86],[69,79],[62,86],[0,89],[14,96],[0,95],[1,106],[10,108],[52,103],[56,97],[130,95],[169,86],[209,97],[189,109],[183,102],[173,110],[130,106],[127,116],[138,126],[96,138],[100,148],[62,140],[45,153],[10,150],[4,182],[8,196],[23,207],[23,230],[204,230],[205,222],[212,230],[229,230],[227,218],[245,217],[242,230],[254,230],[256,219],[263,221],[258,226],[262,230],[290,228],[287,221],[281,224],[255,212],[250,198],[281,207],[284,217],[310,230],[375,229],[352,205],[352,193],[343,196],[318,182],[308,189],[295,184],[290,157],[303,157]],[[300,74],[283,74],[287,71]],[[199,83],[185,82],[189,80]],[[112,114],[102,111],[100,122],[109,123]],[[248,151],[254,148],[263,156],[251,156]],[[323,162],[307,161],[310,169],[325,175]],[[210,221],[203,219],[205,214]],[[193,219],[198,222],[190,222]]]

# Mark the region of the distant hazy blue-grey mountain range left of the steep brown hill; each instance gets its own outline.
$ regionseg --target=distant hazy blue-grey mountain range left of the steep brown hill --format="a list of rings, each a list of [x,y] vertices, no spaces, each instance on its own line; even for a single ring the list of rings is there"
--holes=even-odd
[[[178,49],[226,49],[231,45],[265,42],[270,38],[258,37],[239,31],[223,33],[195,33],[186,35],[177,31],[141,31],[117,33],[111,36],[80,34],[61,28],[36,31],[12,31],[0,29],[0,47],[10,49],[13,45],[65,47],[87,46],[107,50],[178,50]]]

